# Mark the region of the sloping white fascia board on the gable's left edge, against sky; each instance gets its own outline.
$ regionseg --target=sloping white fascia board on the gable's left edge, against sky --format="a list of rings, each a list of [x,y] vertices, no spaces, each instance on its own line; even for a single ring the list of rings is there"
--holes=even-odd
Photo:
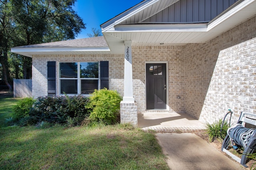
[[[116,16],[115,18],[107,21],[106,23],[103,23],[101,25],[102,27],[102,33],[106,32],[108,29],[111,29],[118,23],[126,20],[127,18],[130,18],[130,16],[133,16],[134,14],[140,12],[141,10],[144,10],[145,8],[148,8],[152,4],[158,2],[159,0],[145,0],[142,1],[140,4],[130,8],[129,10],[125,11],[124,13],[120,14],[119,16]]]

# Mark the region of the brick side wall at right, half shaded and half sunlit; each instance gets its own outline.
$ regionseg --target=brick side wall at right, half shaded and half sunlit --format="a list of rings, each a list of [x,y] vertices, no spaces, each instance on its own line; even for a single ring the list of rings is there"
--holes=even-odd
[[[250,89],[256,85],[255,20],[251,18],[207,43],[186,45],[187,113],[208,122],[223,118],[228,109],[234,109],[236,116],[246,110],[255,113],[256,95]],[[232,92],[238,89],[243,92]]]

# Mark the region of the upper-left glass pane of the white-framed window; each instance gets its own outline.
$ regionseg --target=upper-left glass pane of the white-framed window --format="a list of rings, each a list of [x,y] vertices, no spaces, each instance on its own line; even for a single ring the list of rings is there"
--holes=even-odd
[[[60,63],[60,78],[77,78],[77,63]]]

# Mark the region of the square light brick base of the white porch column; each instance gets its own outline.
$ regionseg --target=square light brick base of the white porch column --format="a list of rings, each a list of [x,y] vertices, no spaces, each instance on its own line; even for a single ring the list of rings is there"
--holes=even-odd
[[[121,123],[131,123],[133,126],[138,126],[137,103],[120,103],[120,120]]]

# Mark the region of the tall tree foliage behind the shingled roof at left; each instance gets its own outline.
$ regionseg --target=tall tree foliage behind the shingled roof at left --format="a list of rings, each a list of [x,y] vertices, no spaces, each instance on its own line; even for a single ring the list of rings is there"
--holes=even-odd
[[[72,9],[75,2],[0,0],[0,64],[4,80],[10,81],[8,51],[11,47],[74,39],[85,29],[82,18]],[[17,57],[23,78],[31,78],[31,59]],[[18,70],[16,65],[14,68]]]

